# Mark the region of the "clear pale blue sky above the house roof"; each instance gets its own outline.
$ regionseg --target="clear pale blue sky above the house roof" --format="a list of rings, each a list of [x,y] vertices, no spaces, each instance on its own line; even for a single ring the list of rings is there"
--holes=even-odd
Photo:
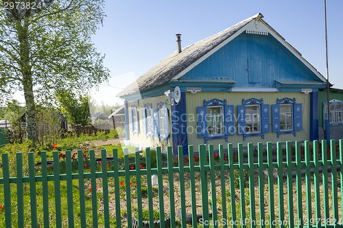
[[[327,0],[329,81],[335,88],[343,88],[342,10],[342,0]],[[97,94],[104,103],[117,102],[120,88],[176,51],[175,34],[182,34],[185,47],[257,13],[327,77],[324,0],[107,0],[105,11],[93,36],[111,75]]]

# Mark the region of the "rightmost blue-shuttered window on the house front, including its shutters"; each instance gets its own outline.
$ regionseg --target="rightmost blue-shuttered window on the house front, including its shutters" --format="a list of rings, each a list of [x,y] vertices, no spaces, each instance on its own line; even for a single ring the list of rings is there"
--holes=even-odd
[[[272,105],[272,131],[278,134],[294,134],[303,129],[303,108],[296,99],[276,99]]]

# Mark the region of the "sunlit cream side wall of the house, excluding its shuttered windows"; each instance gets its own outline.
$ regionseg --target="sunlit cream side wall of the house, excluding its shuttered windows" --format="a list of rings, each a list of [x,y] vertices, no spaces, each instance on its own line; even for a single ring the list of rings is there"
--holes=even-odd
[[[139,134],[132,134],[132,132],[130,131],[130,127],[128,127],[128,131],[130,131],[129,132],[130,140],[128,140],[126,142],[126,144],[129,144],[130,146],[133,146],[133,147],[140,147],[140,148],[141,147],[143,147],[143,148],[145,148],[145,147],[158,147],[158,146],[163,146],[163,148],[164,148],[166,146],[171,145],[171,132],[169,134],[169,138],[168,138],[167,142],[165,140],[160,142],[158,140],[157,136],[149,136],[148,137],[148,136],[146,136],[143,133],[143,123],[142,123],[142,111],[144,109],[144,105],[146,103],[151,103],[152,104],[152,108],[156,108],[157,103],[159,103],[159,102],[166,102],[167,98],[169,98],[169,97],[166,97],[165,95],[163,95],[163,96],[150,97],[150,98],[147,98],[147,99],[141,99],[141,100],[138,100],[138,101],[129,101],[128,102],[129,115],[131,115],[131,113],[130,113],[131,106],[132,105],[136,105],[137,106],[138,119],[139,119]],[[170,102],[169,102],[169,99],[168,99],[167,109],[168,109],[168,112],[169,112],[169,123],[171,123],[171,108],[170,107],[171,106],[170,106]],[[130,125],[130,121],[128,121],[128,124]],[[169,129],[171,129],[171,125],[169,125]]]

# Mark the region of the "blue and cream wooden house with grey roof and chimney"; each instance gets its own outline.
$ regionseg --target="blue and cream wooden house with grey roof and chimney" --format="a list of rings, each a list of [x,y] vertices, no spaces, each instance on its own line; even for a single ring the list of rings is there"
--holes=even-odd
[[[139,147],[318,139],[325,78],[252,16],[167,56],[119,97],[126,140]],[[180,101],[172,99],[180,88]]]

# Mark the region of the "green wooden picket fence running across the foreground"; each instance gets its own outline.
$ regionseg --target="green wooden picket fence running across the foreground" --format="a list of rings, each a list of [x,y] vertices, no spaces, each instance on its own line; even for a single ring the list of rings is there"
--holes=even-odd
[[[102,162],[90,151],[89,168],[78,151],[77,171],[67,151],[65,173],[58,151],[51,171],[47,153],[40,154],[39,168],[29,153],[28,176],[22,153],[16,153],[15,168],[3,153],[0,222],[5,227],[148,227],[144,216],[157,224],[157,211],[165,221],[159,227],[187,227],[189,221],[192,227],[342,227],[342,143],[277,142],[274,148],[268,142],[247,149],[228,144],[216,150],[200,145],[197,154],[189,146],[188,157],[182,147],[173,157],[168,147],[166,160],[157,148],[154,168],[149,148],[143,165],[138,149],[132,155],[125,149],[123,168],[117,149],[110,168],[105,149]]]

